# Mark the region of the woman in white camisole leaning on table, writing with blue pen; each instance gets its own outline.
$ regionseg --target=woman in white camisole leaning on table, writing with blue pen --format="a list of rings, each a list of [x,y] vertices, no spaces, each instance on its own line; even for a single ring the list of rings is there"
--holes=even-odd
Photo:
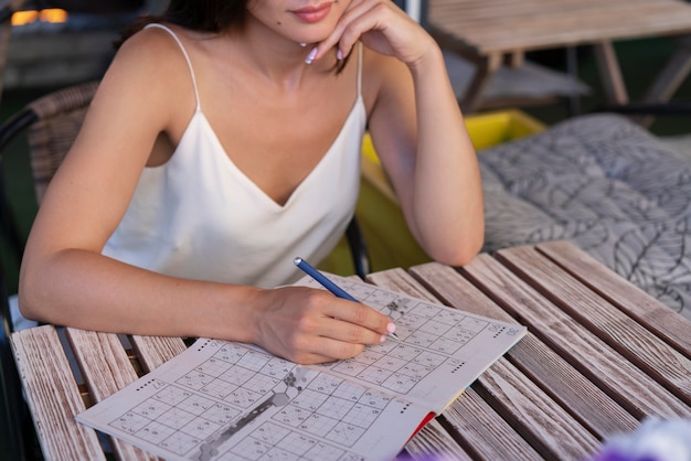
[[[460,266],[477,159],[434,40],[387,0],[173,0],[106,73],[34,222],[22,313],[83,329],[352,357],[391,320],[275,288],[353,214],[365,122],[412,233]]]

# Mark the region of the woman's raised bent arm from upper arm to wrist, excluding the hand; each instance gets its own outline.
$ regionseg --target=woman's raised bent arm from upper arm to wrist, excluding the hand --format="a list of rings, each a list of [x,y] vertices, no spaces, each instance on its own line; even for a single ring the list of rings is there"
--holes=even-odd
[[[370,118],[375,149],[421,246],[438,261],[463,266],[482,246],[483,196],[442,52],[435,45],[408,66],[412,84],[405,68],[391,67]]]

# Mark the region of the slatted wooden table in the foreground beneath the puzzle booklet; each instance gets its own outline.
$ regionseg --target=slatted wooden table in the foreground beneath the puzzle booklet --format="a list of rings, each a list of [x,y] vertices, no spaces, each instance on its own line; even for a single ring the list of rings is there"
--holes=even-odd
[[[515,321],[529,334],[406,446],[413,458],[583,460],[648,416],[691,417],[691,322],[567,243],[373,274],[370,281]],[[104,459],[74,415],[185,349],[51,325],[12,345],[47,459]],[[61,340],[61,337],[63,337]],[[66,341],[65,341],[66,340]],[[70,368],[74,354],[83,378]],[[114,441],[121,459],[148,459]]]

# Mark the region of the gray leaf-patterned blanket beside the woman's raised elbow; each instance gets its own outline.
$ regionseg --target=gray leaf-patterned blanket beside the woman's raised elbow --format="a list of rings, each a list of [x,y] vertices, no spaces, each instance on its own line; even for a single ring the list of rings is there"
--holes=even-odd
[[[567,239],[691,319],[691,160],[616,115],[479,153],[486,246]]]

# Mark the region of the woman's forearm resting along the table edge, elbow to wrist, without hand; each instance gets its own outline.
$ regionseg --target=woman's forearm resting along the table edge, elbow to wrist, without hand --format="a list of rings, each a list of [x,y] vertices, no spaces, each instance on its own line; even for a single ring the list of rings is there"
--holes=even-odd
[[[22,313],[39,321],[129,334],[252,341],[244,305],[259,289],[183,280],[88,250],[65,249],[22,266]]]

